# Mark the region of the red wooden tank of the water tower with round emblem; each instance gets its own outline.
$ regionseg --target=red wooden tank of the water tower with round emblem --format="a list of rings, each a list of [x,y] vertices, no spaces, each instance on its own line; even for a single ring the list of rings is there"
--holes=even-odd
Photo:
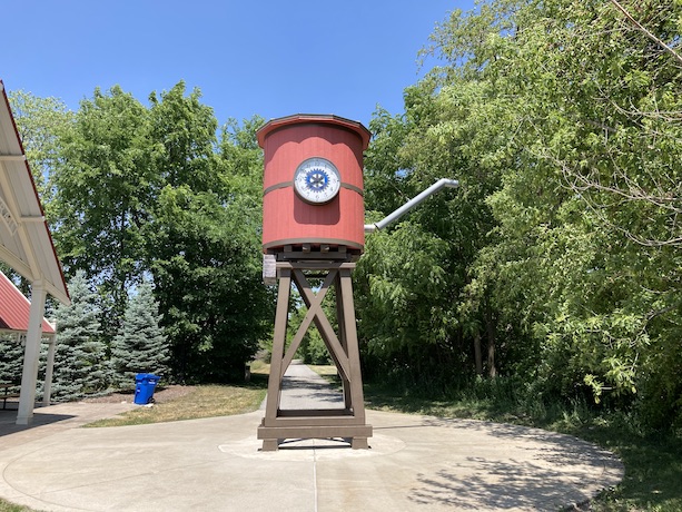
[[[369,131],[337,116],[295,115],[258,130],[265,152],[263,250],[365,245],[363,151]]]

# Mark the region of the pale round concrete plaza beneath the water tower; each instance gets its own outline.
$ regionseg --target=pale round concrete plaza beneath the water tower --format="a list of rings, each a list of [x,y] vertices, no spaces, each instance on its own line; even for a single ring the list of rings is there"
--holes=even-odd
[[[300,391],[305,375],[293,381],[287,400],[316,394]],[[0,415],[0,496],[42,511],[556,511],[623,476],[612,454],[571,436],[377,411],[370,450],[304,440],[260,452],[263,411],[77,427],[132,407],[53,405],[32,429]]]

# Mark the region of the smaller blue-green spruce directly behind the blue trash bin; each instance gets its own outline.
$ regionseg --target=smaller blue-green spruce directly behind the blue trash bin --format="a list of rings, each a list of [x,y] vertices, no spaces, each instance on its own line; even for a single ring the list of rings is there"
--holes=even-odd
[[[128,301],[123,325],[111,347],[111,364],[121,387],[132,384],[137,373],[160,376],[168,372],[169,348],[159,326],[161,317],[151,284],[142,283]]]

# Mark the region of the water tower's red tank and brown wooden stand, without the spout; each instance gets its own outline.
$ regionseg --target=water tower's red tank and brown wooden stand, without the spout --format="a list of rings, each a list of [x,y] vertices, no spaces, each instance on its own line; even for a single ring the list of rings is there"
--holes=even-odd
[[[365,420],[352,272],[365,244],[363,151],[370,134],[362,124],[340,117],[297,115],[273,119],[257,135],[265,151],[263,250],[267,272],[274,266],[278,282],[266,412],[258,439],[265,451],[277,450],[286,439],[317,437],[349,439],[352,447],[366,449],[372,425]],[[322,279],[322,286],[313,287],[310,278]],[[291,284],[307,313],[285,353]],[[322,307],[330,288],[336,296],[336,329]],[[313,324],[342,377],[344,406],[283,410],[284,374]]]

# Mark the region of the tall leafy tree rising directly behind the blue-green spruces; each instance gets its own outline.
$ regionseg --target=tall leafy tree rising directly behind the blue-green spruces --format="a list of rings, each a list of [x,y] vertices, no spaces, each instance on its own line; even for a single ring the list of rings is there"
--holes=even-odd
[[[131,284],[146,270],[142,227],[158,188],[147,109],[120,87],[96,89],[60,134],[55,239],[70,273],[96,279],[102,327],[113,336]]]

